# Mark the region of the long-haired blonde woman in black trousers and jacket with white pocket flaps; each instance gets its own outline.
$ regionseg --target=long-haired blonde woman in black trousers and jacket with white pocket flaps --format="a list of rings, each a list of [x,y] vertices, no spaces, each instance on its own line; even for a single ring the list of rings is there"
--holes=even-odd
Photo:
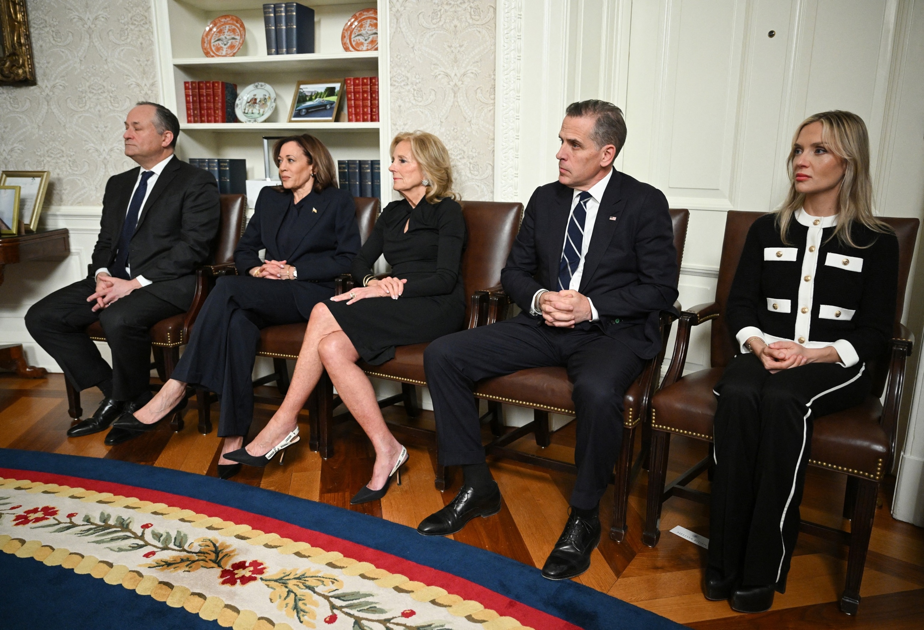
[[[785,591],[812,421],[860,404],[894,324],[898,241],[872,213],[869,139],[808,117],[781,210],[751,226],[725,317],[738,354],[715,386],[705,595],[762,612]]]

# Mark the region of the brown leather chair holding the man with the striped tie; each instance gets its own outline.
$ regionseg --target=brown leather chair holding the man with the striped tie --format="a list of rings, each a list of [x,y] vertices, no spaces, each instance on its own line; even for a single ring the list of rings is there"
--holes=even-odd
[[[689,211],[675,210],[671,211],[671,219],[674,223],[674,247],[677,250],[677,269],[679,272],[680,263],[684,256],[684,244],[687,240],[687,223],[689,221]],[[501,309],[494,309],[501,313],[505,310],[506,297],[500,294],[492,296],[503,302]],[[679,309],[680,305],[675,304]],[[635,431],[639,422],[647,417],[647,409],[650,397],[654,394],[654,388],[661,374],[661,364],[664,357],[664,348],[667,345],[667,338],[671,333],[672,317],[663,313],[662,315],[662,350],[658,357],[645,363],[638,379],[632,383],[626,391],[623,405],[623,442],[619,454],[619,460],[616,464],[616,473],[614,479],[614,520],[613,527],[610,528],[610,538],[621,542],[626,536],[626,509],[628,504],[629,484],[633,479],[632,474],[632,452],[635,442]],[[575,415],[574,401],[571,394],[574,385],[568,380],[565,368],[531,368],[529,370],[519,370],[513,374],[499,376],[493,379],[487,379],[478,383],[475,389],[475,395],[479,398],[485,398],[497,403],[506,403],[508,405],[525,406],[533,409],[533,421],[516,430],[512,430],[485,447],[488,454],[495,456],[515,459],[520,462],[526,462],[535,466],[542,466],[552,470],[562,472],[576,473],[577,466],[574,464],[543,457],[536,454],[523,453],[516,449],[510,448],[509,444],[516,442],[530,432],[535,435],[536,443],[541,447],[546,447],[551,443],[551,426],[549,422],[549,413],[565,414],[565,416]],[[495,409],[497,409],[495,407]],[[499,409],[497,409],[499,412]],[[645,427],[644,429],[647,429]],[[647,440],[643,440],[642,453],[639,455],[638,467],[640,467],[645,456]],[[638,468],[636,469],[638,472]]]

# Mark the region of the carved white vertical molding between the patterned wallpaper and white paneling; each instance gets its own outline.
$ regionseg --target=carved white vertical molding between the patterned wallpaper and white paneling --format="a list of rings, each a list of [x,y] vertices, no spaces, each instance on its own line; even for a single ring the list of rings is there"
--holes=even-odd
[[[517,200],[523,0],[497,0],[494,200]]]

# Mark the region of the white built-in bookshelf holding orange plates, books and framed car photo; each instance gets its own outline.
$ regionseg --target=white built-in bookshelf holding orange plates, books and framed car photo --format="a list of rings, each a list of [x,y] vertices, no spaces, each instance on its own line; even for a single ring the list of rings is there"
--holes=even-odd
[[[164,105],[180,121],[176,153],[181,159],[244,158],[248,179],[262,179],[261,136],[310,133],[327,145],[336,160],[381,160],[389,164],[388,3],[343,0],[300,0],[314,9],[315,53],[310,55],[267,55],[263,29],[262,0],[153,0],[161,90]],[[346,20],[363,8],[377,8],[379,50],[345,53],[340,34]],[[202,31],[222,15],[234,15],[244,22],[247,36],[233,57],[206,57],[201,49]],[[379,78],[379,122],[289,123],[289,108],[295,86],[301,80]],[[262,81],[273,86],[276,108],[262,123],[186,122],[184,81],[227,81],[238,91]],[[346,100],[346,99],[344,99]],[[346,103],[342,103],[346,111]],[[271,166],[270,177],[275,178]],[[386,199],[389,193],[385,192]]]

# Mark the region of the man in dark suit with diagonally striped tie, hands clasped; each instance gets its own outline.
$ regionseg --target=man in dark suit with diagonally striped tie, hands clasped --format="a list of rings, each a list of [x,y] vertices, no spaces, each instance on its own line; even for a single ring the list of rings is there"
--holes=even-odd
[[[672,310],[677,297],[667,200],[613,168],[626,141],[622,112],[602,101],[572,103],[559,138],[558,181],[533,193],[501,273],[522,312],[444,336],[424,354],[440,460],[462,466],[465,483],[418,527],[444,536],[501,509],[481,445],[474,383],[563,366],[574,383],[577,481],[565,531],[542,569],[550,579],[590,566],[600,541],[600,498],[622,440],[623,395],[660,351],[660,312]]]

